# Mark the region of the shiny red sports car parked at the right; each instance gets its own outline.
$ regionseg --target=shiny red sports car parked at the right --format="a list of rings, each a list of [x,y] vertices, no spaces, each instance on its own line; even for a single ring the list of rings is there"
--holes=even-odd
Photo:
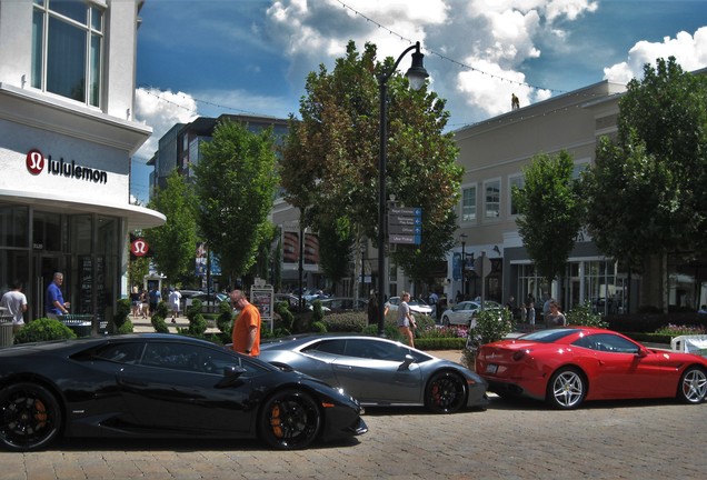
[[[559,409],[585,400],[677,397],[699,403],[707,394],[707,358],[654,350],[605,329],[539,330],[479,348],[476,371],[500,397],[530,397]]]

